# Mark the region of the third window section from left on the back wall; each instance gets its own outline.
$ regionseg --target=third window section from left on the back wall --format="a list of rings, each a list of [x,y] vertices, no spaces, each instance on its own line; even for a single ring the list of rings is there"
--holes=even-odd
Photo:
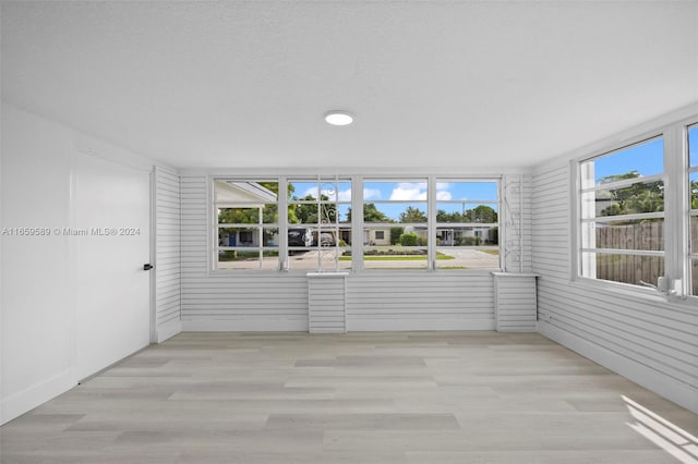
[[[426,269],[425,179],[363,182],[363,268]]]

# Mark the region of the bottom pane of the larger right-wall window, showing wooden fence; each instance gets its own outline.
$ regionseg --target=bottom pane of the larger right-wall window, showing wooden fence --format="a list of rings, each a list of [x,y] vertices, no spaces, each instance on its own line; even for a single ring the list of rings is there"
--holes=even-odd
[[[662,256],[630,256],[601,253],[582,253],[583,277],[630,283],[634,285],[651,284],[664,276],[664,258]]]

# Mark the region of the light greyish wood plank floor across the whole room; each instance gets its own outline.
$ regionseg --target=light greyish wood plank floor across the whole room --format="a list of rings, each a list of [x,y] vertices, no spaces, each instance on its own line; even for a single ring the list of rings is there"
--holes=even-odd
[[[209,332],[7,424],[0,461],[675,464],[695,436],[696,414],[538,334]]]

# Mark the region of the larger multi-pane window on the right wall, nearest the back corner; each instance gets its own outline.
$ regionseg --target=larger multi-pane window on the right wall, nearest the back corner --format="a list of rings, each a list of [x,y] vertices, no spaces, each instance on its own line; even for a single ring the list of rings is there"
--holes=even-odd
[[[655,285],[664,276],[663,139],[585,160],[579,173],[579,274]]]

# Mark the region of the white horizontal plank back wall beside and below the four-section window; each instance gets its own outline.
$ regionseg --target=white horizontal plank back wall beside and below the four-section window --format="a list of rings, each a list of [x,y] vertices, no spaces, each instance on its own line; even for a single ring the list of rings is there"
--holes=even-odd
[[[531,178],[524,176],[520,251],[530,271]],[[212,272],[207,176],[181,176],[183,330],[309,330],[304,272]],[[518,266],[517,266],[518,267]],[[518,269],[515,269],[518,271]],[[492,330],[490,271],[366,271],[346,280],[347,330]]]

